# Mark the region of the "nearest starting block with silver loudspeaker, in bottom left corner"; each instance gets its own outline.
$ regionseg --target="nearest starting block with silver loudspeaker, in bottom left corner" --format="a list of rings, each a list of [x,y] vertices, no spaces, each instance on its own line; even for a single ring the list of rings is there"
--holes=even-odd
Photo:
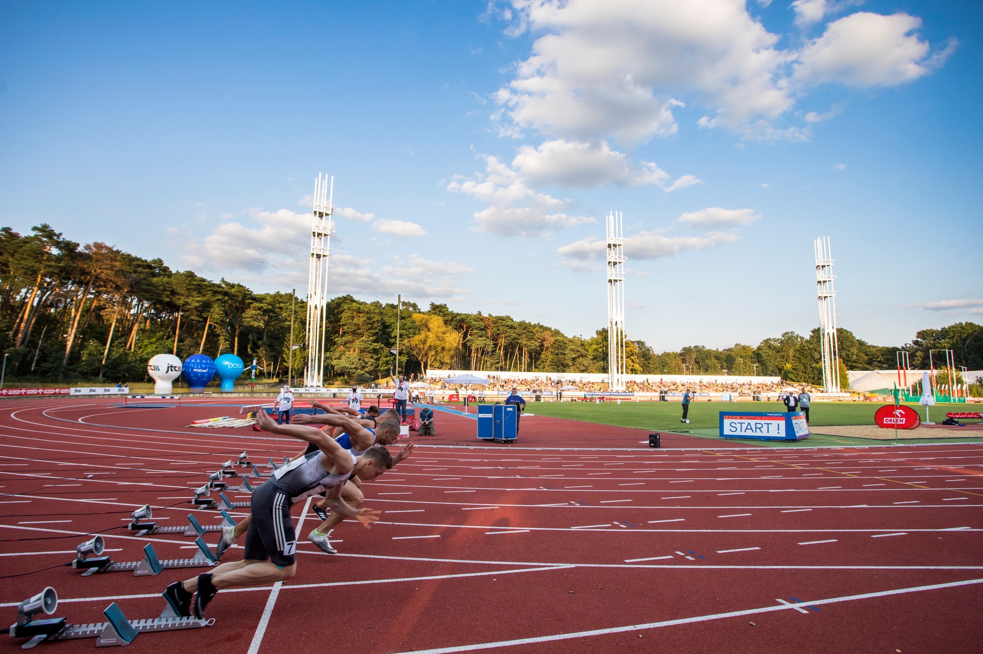
[[[210,627],[215,624],[214,618],[201,620],[175,616],[170,607],[164,609],[160,618],[128,620],[116,602],[110,604],[102,612],[108,621],[105,623],[70,625],[65,618],[34,620],[34,614],[43,612],[50,616],[57,608],[58,593],[51,586],[34,597],[21,602],[17,608],[17,623],[10,627],[12,638],[29,638],[28,642],[21,645],[21,649],[30,649],[45,640],[92,637],[95,638],[96,647],[129,645],[139,634],[145,632],[194,629]]]

